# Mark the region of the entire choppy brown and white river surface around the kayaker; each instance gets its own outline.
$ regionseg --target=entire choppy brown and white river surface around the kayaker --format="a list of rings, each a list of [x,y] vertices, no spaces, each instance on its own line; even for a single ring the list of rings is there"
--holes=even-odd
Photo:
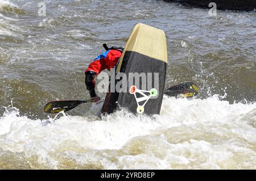
[[[46,0],[39,16],[40,2],[0,0],[0,169],[256,169],[255,11]],[[195,99],[164,96],[152,117],[99,119],[100,104],[43,112],[49,100],[89,99],[84,70],[137,23],[164,30],[166,88],[195,81]]]

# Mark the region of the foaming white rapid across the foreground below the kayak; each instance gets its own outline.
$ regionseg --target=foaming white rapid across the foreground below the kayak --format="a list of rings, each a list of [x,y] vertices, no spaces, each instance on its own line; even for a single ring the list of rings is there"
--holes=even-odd
[[[160,115],[0,119],[1,158],[29,169],[256,169],[256,104],[164,97]],[[14,159],[14,160],[13,160]],[[20,165],[20,163],[16,165]],[[36,164],[35,164],[36,163]]]

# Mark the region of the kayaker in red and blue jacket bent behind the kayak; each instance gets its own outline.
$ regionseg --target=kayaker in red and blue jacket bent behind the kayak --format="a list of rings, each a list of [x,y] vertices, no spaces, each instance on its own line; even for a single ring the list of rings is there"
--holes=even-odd
[[[124,47],[111,47],[108,48],[106,44],[103,45],[103,47],[106,49],[104,53],[101,53],[99,56],[97,56],[92,63],[88,66],[88,68],[85,70],[85,85],[86,89],[89,90],[90,99],[96,103],[101,98],[96,94],[95,86],[96,82],[94,78],[101,73],[102,70],[105,69],[112,69],[115,65],[117,65],[117,62],[119,58],[122,55]]]

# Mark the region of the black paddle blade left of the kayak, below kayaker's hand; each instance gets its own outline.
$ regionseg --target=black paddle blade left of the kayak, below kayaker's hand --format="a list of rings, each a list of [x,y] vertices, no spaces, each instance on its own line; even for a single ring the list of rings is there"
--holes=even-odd
[[[48,102],[44,106],[44,112],[46,113],[59,113],[61,111],[69,111],[79,106],[82,103],[92,102],[91,100],[55,100]]]

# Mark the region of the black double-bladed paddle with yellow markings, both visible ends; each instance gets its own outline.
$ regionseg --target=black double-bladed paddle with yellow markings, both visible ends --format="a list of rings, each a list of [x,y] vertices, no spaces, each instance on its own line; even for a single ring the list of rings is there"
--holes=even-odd
[[[176,98],[192,98],[199,93],[199,88],[195,82],[184,82],[178,85],[171,86],[164,91],[168,96]],[[83,103],[91,103],[92,100],[55,100],[48,102],[44,106],[46,113],[59,113],[61,111],[69,111]],[[99,103],[99,102],[98,102]]]

